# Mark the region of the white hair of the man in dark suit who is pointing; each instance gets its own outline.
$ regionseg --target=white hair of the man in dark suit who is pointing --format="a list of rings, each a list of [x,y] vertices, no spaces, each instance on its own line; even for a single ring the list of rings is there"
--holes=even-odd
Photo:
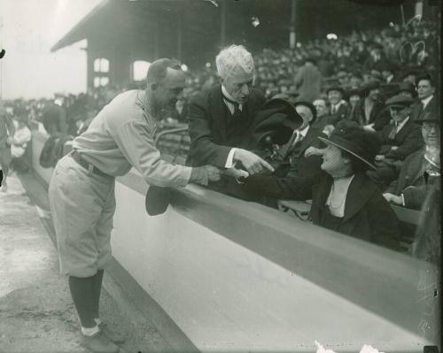
[[[215,58],[217,73],[221,79],[241,74],[253,74],[253,55],[243,45],[231,45]]]

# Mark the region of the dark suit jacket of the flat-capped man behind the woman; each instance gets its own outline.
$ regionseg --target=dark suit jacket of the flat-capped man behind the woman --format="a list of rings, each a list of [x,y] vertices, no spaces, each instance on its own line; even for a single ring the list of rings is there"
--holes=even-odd
[[[379,152],[380,155],[385,155],[386,158],[393,160],[404,160],[423,146],[422,131],[413,119],[409,118],[408,122],[395,136],[395,139],[391,140],[389,139],[389,134],[391,134],[394,128],[395,125],[391,123],[386,125],[383,130],[377,132],[382,144]],[[391,150],[392,146],[397,146],[398,150]]]

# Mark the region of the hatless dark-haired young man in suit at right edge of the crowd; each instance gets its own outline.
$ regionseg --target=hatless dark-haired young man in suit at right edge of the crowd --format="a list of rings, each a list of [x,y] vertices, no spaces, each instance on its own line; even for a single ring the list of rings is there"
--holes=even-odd
[[[431,112],[432,115],[439,114],[437,98],[435,97],[435,83],[431,76],[419,76],[416,82],[418,102],[411,111],[411,119],[420,119],[427,112]]]

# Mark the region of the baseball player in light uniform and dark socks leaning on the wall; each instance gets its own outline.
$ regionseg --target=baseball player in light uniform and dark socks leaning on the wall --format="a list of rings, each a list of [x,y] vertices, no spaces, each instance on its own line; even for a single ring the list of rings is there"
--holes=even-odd
[[[81,322],[82,346],[117,353],[121,335],[99,318],[105,265],[111,259],[115,177],[135,167],[155,187],[183,187],[219,180],[211,165],[170,165],[153,145],[159,112],[175,104],[185,86],[179,63],[167,58],[149,67],[145,90],[115,97],[76,137],[73,151],[60,159],[51,177],[49,201],[57,236],[60,272]]]

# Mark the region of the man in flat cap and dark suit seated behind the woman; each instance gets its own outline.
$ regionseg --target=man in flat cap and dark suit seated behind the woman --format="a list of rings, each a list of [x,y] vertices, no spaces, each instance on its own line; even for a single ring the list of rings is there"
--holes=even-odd
[[[405,96],[393,96],[386,101],[392,123],[377,132],[382,147],[376,156],[377,171],[369,171],[372,180],[385,190],[397,179],[400,167],[411,153],[423,145],[420,127],[410,119],[413,100]]]

